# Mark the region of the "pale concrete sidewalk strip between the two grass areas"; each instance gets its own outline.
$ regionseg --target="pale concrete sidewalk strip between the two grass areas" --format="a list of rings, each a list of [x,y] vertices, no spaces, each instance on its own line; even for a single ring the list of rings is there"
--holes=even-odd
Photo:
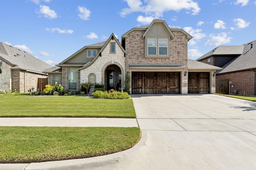
[[[0,126],[138,127],[138,123],[135,118],[1,117]]]

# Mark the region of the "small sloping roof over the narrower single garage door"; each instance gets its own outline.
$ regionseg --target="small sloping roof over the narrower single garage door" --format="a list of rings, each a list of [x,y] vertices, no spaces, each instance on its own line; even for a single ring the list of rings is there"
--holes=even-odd
[[[188,59],[188,70],[221,70],[222,68],[210,64]]]

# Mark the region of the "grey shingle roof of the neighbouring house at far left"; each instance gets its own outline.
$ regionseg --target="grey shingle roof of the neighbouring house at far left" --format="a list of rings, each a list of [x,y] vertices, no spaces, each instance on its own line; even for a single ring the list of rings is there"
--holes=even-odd
[[[10,64],[11,69],[22,69],[41,73],[51,66],[25,51],[0,43],[0,60]]]

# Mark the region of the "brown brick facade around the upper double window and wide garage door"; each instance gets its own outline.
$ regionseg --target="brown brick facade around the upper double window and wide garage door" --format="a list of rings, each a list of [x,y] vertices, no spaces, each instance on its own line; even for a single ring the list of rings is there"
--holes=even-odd
[[[170,40],[170,57],[169,58],[145,58],[144,57],[144,43],[145,39],[142,38],[142,34],[145,31],[132,31],[128,34],[126,38],[126,64],[125,72],[129,72],[131,75],[131,70],[129,68],[129,64],[184,64],[186,67],[182,69],[183,72],[181,74],[181,87],[182,93],[187,93],[188,89],[188,76],[184,76],[184,72],[188,72],[188,40],[186,36],[182,34],[180,31],[173,31],[174,39]],[[150,70],[150,69],[148,69]],[[148,71],[143,70],[143,71]],[[173,70],[162,70],[162,71],[182,71],[180,69]],[[152,71],[152,70],[151,70]],[[159,70],[161,71],[161,70]],[[131,84],[130,84],[131,86]]]

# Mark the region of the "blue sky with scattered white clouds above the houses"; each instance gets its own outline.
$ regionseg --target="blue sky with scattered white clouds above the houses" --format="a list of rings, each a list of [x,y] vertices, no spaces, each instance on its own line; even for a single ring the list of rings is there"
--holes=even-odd
[[[256,39],[256,0],[0,0],[0,42],[54,66],[153,19],[193,36],[190,59]]]

